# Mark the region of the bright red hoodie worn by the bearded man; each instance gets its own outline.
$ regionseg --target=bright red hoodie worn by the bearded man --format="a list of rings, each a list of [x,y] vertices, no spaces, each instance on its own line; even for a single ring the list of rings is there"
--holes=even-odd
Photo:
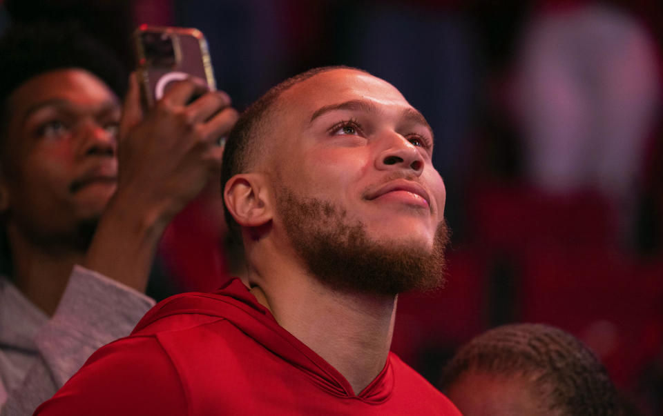
[[[355,395],[237,279],[155,306],[35,414],[460,415],[394,354]]]

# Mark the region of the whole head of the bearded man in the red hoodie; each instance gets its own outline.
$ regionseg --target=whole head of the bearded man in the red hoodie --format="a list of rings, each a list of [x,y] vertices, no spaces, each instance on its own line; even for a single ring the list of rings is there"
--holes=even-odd
[[[448,239],[432,146],[421,112],[363,70],[316,68],[269,90],[236,124],[222,162],[245,283],[271,290],[306,275],[384,296],[438,286]]]

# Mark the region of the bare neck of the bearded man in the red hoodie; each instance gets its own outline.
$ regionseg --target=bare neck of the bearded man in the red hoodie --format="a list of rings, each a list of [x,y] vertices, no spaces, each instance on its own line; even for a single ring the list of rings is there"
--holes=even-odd
[[[290,267],[288,267],[290,266]],[[383,370],[392,340],[395,296],[345,293],[289,264],[252,270],[251,293],[278,324],[314,350],[358,394]]]

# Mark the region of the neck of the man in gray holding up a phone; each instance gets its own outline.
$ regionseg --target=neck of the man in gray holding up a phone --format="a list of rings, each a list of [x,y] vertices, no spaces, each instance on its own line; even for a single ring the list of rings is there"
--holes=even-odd
[[[71,270],[85,252],[59,246],[55,250],[35,244],[20,230],[8,226],[13,279],[19,290],[47,315],[53,315],[69,281]]]

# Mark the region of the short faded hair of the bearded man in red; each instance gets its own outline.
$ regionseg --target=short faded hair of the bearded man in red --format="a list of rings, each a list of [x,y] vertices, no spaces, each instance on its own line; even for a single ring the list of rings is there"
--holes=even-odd
[[[262,144],[260,141],[261,128],[265,126],[270,112],[276,108],[275,103],[278,101],[278,98],[282,93],[315,75],[337,69],[356,70],[368,73],[365,70],[352,68],[350,66],[323,66],[320,68],[313,68],[278,83],[278,85],[270,88],[265,92],[265,95],[262,95],[262,97],[251,104],[247,110],[242,112],[235,127],[233,127],[230,132],[223,150],[221,167],[222,192],[226,182],[231,177],[238,173],[247,172],[247,170],[251,168],[251,162],[257,159]],[[225,206],[225,201],[224,211],[229,230],[231,230],[235,239],[241,241],[238,235],[238,224],[235,219],[233,219],[232,215],[230,215],[228,208]]]

